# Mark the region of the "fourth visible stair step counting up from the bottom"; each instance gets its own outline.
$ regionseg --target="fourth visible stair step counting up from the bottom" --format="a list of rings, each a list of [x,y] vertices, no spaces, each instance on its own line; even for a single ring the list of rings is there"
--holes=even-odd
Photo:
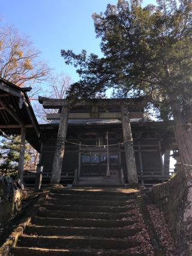
[[[98,227],[112,228],[125,227],[134,224],[134,221],[112,221],[103,219],[64,219],[64,218],[32,218],[32,224],[55,227]]]

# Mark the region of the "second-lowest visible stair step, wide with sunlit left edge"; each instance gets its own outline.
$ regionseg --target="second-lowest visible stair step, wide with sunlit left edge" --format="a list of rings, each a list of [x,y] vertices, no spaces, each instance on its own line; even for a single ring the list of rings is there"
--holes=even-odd
[[[47,249],[115,249],[125,250],[140,245],[137,240],[128,239],[102,239],[99,237],[85,237],[85,236],[20,236],[17,245],[22,247],[38,247]]]

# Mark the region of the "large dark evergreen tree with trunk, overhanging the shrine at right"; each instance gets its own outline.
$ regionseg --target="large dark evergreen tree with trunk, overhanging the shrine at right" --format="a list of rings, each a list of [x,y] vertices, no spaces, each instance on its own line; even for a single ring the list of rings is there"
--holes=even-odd
[[[192,4],[158,0],[142,7],[139,1],[119,0],[104,13],[92,15],[101,38],[103,57],[86,50],[61,50],[66,64],[77,67],[81,79],[68,92],[87,99],[106,88],[126,95],[148,96],[161,118],[174,119],[182,163],[192,165]]]

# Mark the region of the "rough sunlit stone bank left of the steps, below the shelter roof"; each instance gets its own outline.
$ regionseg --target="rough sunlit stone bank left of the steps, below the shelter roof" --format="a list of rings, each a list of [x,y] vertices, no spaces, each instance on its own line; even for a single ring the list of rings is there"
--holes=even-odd
[[[28,194],[20,181],[13,182],[12,178],[0,176],[0,225],[22,207],[22,200]]]

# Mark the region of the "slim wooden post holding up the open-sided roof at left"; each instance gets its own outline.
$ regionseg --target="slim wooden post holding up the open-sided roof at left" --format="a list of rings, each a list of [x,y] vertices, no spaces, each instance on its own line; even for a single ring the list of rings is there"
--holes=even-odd
[[[25,159],[25,134],[26,128],[22,126],[22,132],[20,137],[20,153],[19,153],[19,165],[18,165],[18,178],[23,182],[23,168]]]

